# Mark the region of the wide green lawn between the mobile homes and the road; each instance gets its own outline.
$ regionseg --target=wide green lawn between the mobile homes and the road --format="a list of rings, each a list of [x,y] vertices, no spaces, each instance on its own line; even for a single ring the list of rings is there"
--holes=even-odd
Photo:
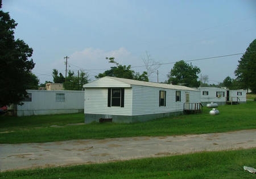
[[[256,102],[219,106],[219,115],[180,115],[143,123],[92,123],[67,126],[84,121],[84,114],[30,116],[0,120],[0,143],[31,143],[71,139],[104,139],[133,136],[205,134],[256,128]],[[50,127],[57,124],[61,127]],[[9,132],[8,132],[9,131]]]

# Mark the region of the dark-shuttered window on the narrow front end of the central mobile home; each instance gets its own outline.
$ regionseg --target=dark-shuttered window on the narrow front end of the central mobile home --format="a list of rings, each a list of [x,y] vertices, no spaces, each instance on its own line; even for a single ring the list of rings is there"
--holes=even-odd
[[[108,107],[119,106],[125,107],[125,89],[109,88],[108,89]]]

